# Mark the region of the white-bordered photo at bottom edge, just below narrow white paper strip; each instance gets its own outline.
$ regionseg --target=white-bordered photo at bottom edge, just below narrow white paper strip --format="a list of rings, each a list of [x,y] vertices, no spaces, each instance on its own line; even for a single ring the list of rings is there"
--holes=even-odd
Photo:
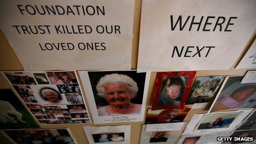
[[[146,131],[146,126],[142,125],[140,143],[175,143],[182,134],[185,125],[181,130],[174,131]]]

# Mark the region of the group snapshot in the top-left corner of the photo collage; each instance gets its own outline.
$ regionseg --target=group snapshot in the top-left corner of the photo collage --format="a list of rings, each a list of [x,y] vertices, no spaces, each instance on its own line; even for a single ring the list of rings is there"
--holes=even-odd
[[[12,84],[36,84],[31,72],[4,72]]]

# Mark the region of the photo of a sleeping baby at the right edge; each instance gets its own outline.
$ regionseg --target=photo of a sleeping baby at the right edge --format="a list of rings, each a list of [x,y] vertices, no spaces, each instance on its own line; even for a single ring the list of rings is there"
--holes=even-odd
[[[225,79],[210,111],[256,107],[256,83],[241,83],[243,76]]]

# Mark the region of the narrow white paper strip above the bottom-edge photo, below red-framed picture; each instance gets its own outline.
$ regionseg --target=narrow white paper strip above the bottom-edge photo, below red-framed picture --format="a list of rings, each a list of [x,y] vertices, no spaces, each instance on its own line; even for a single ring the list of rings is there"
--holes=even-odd
[[[182,129],[183,125],[184,122],[148,124],[145,131],[178,131]]]

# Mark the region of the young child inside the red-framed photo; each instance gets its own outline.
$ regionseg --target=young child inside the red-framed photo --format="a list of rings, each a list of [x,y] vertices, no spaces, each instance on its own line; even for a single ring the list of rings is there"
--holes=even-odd
[[[159,95],[158,106],[179,106],[182,100],[184,84],[180,78],[169,78],[167,92]],[[168,79],[167,79],[168,81]]]

